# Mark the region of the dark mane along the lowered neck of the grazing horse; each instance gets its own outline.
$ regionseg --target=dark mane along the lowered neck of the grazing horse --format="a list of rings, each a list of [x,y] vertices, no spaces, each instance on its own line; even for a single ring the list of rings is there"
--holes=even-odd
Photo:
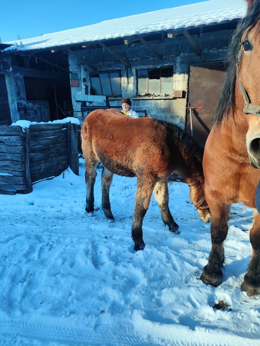
[[[187,131],[182,130],[179,126],[163,120],[154,119],[159,124],[164,125],[168,129],[168,134],[174,138],[178,146],[187,149],[187,152],[196,157],[198,162],[202,163],[203,149],[194,141]]]

